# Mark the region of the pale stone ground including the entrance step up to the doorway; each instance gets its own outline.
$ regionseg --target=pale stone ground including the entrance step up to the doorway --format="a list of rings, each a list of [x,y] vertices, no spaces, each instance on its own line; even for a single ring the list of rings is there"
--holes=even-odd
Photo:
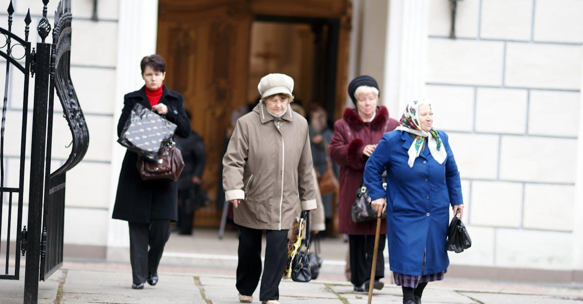
[[[264,245],[265,246],[265,245]],[[292,303],[361,304],[367,294],[355,293],[344,276],[347,244],[322,240],[324,265],[318,280],[298,283],[283,280],[280,301]],[[155,287],[131,289],[129,255],[109,261],[65,259],[47,282],[40,282],[39,303],[238,303],[235,288],[237,236],[227,231],[222,241],[216,231],[195,230],[193,236],[173,234],[162,257],[160,281]],[[375,291],[373,303],[402,303],[401,288],[391,284],[386,270],[385,288]],[[22,303],[24,266],[20,281],[0,281],[0,304]],[[259,302],[259,290],[254,303]],[[583,286],[468,280],[446,274],[431,282],[423,303],[582,303]]]

